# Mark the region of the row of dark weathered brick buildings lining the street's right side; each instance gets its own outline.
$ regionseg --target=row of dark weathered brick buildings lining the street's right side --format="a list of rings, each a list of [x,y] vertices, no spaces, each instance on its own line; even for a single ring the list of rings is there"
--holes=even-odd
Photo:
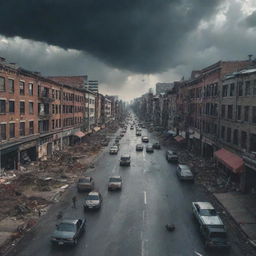
[[[215,159],[242,191],[256,189],[255,63],[219,61],[173,85],[165,94],[137,98],[135,112],[193,152]],[[149,106],[158,111],[146,118]]]

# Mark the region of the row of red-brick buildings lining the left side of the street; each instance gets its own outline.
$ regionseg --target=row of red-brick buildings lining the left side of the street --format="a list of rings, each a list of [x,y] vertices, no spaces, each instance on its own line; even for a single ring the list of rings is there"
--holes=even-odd
[[[111,120],[111,101],[86,81],[43,77],[0,59],[0,170],[44,160]]]

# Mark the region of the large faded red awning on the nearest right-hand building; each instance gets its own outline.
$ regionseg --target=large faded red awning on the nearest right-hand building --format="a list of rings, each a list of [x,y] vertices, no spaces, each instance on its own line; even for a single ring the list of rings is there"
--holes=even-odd
[[[234,173],[240,173],[244,171],[244,161],[238,155],[222,148],[214,152],[214,156],[219,162],[231,169]]]

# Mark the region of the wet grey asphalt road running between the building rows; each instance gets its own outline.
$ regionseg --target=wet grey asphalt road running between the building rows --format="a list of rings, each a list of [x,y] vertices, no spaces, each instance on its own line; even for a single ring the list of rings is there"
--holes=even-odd
[[[142,135],[147,134],[143,129]],[[152,134],[148,135],[150,143],[156,141]],[[95,168],[87,171],[103,196],[100,211],[84,214],[82,205],[86,194],[77,194],[73,187],[9,255],[191,256],[196,255],[194,252],[225,255],[205,252],[192,217],[191,202],[208,200],[203,189],[177,179],[176,166],[165,160],[166,149],[151,154],[146,153],[145,148],[143,152],[136,152],[135,146],[140,142],[141,137],[136,137],[135,130],[128,128],[120,141],[118,155],[109,155],[107,147],[95,162]],[[131,155],[130,167],[119,166],[122,153]],[[111,175],[122,176],[121,192],[108,192]],[[74,194],[77,194],[77,209],[71,207]],[[52,247],[50,244],[60,209],[64,218],[86,217],[86,232],[76,247]],[[175,223],[176,230],[166,231],[167,223]],[[230,255],[241,254],[232,252]]]

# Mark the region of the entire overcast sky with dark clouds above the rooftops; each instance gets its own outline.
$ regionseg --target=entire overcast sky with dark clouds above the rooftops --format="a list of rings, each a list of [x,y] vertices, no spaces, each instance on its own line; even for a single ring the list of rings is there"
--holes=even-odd
[[[0,56],[130,100],[218,60],[256,57],[255,0],[8,0]]]

